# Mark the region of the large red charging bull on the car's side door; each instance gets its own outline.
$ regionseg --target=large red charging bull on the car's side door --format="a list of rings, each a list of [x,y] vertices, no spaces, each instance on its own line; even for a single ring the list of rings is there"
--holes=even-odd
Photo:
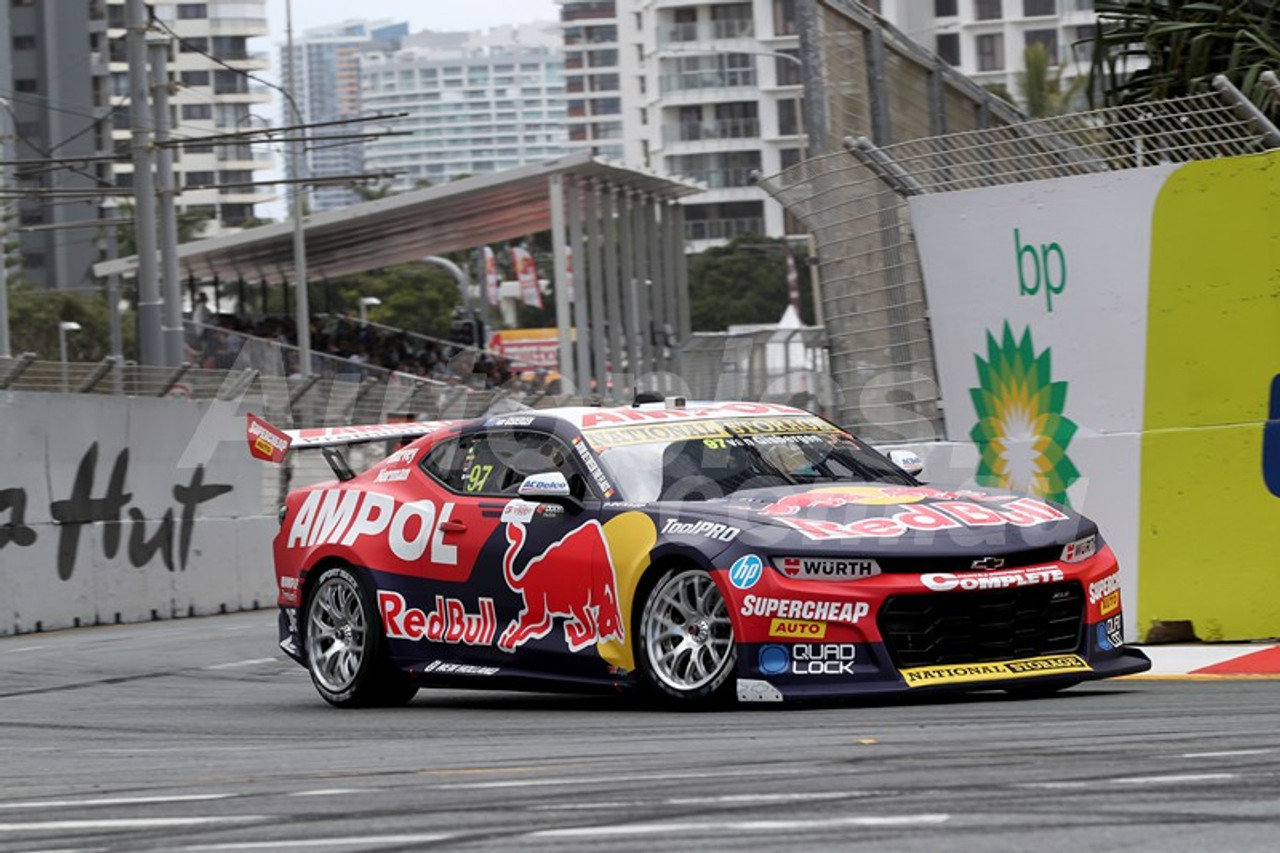
[[[507,524],[502,571],[507,585],[525,599],[525,607],[498,638],[498,648],[515,652],[531,639],[547,637],[557,617],[564,619],[564,642],[571,652],[598,642],[622,640],[617,581],[600,524],[584,524],[517,573],[525,538],[522,524]]]

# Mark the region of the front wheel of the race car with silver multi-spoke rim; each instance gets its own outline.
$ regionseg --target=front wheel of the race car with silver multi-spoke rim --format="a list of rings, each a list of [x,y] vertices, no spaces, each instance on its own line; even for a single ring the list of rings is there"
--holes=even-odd
[[[650,695],[682,708],[732,699],[733,622],[709,573],[677,566],[660,575],[644,599],[636,637],[636,669]]]

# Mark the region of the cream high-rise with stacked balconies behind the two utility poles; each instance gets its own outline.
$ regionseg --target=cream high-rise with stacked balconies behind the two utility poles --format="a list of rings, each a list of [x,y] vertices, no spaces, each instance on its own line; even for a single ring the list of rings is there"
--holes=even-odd
[[[111,92],[116,104],[114,137],[129,138],[128,63],[125,61],[125,0],[106,0],[111,37]],[[41,4],[52,5],[52,4]],[[150,4],[161,36],[173,40],[169,70],[174,81],[170,105],[175,138],[234,134],[255,127],[255,105],[271,100],[265,86],[246,72],[268,68],[266,54],[251,54],[248,40],[266,35],[266,0],[206,0],[206,3]],[[266,117],[261,117],[268,120]],[[253,206],[275,200],[262,187],[262,172],[274,160],[269,152],[244,143],[183,145],[175,158],[177,207],[207,219],[202,237],[236,231],[253,216]],[[115,182],[133,186],[133,164],[115,164]]]

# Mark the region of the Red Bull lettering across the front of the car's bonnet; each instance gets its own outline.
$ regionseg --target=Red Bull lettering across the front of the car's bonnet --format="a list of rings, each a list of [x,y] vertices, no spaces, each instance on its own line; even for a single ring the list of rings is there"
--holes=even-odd
[[[858,539],[872,537],[900,537],[909,530],[931,533],[956,528],[984,528],[1011,524],[1033,528],[1048,521],[1065,521],[1066,515],[1036,498],[1018,498],[1002,506],[982,506],[966,501],[951,501],[932,506],[915,506],[879,519],[863,519],[842,524],[822,519],[780,519],[790,528],[810,539]]]

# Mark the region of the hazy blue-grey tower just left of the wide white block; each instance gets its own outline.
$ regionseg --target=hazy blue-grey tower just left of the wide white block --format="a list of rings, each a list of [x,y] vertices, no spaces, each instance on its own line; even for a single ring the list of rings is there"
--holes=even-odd
[[[307,131],[306,177],[310,179],[357,175],[365,172],[360,123],[334,124],[361,115],[360,56],[366,50],[394,51],[408,36],[408,23],[392,20],[346,20],[303,31],[293,42],[293,97],[302,120],[319,124]],[[288,46],[280,45],[280,79],[289,86]],[[296,123],[288,104],[282,108],[282,126]],[[329,124],[328,127],[323,127]],[[329,137],[328,141],[325,137]],[[311,210],[332,210],[362,201],[348,183],[311,184]]]

